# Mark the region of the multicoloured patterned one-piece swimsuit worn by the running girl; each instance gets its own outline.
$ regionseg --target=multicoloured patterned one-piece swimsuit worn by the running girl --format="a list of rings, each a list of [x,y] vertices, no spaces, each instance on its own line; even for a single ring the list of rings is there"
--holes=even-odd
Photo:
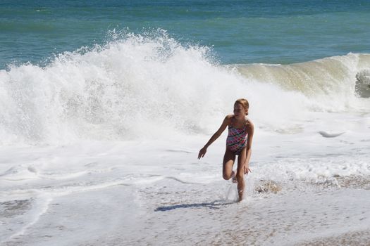
[[[228,138],[226,138],[226,146],[235,155],[239,155],[242,149],[247,146],[247,131],[245,126],[243,129],[228,126]]]

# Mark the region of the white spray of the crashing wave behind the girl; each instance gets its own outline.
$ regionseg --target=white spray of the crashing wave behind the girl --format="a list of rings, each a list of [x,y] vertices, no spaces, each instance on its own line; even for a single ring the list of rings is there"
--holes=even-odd
[[[164,30],[112,35],[104,45],[61,53],[45,67],[26,63],[1,70],[0,142],[211,134],[237,98],[249,100],[249,117],[259,128],[273,131],[294,128],[309,110],[353,108],[357,99],[348,91],[354,85],[333,85],[324,70],[302,76],[325,81],[297,77],[288,83],[311,63],[235,68],[215,63],[208,47],[180,44]],[[274,70],[291,73],[275,76]],[[307,93],[302,85],[331,90]]]

